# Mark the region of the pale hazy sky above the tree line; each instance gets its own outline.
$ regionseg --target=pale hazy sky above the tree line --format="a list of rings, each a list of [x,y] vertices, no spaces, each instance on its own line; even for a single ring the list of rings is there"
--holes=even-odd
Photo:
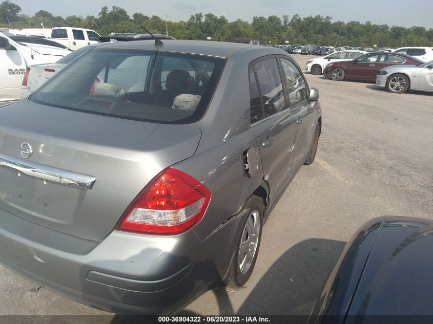
[[[1,2],[2,0],[0,0]],[[355,20],[372,24],[433,28],[432,0],[11,0],[25,14],[32,16],[40,9],[54,16],[98,16],[103,6],[117,6],[129,15],[135,12],[171,21],[188,20],[192,14],[201,12],[225,15],[229,21],[238,18],[252,21],[253,16],[268,17],[299,14],[301,17],[331,16],[332,21]]]

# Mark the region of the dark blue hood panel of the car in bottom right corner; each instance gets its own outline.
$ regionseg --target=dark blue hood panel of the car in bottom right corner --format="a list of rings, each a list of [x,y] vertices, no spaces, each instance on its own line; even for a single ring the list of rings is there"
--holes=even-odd
[[[348,315],[433,315],[433,221],[389,217]]]

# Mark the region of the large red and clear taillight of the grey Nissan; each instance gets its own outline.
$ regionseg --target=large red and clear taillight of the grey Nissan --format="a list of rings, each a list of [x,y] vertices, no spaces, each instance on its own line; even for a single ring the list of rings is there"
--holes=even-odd
[[[204,215],[210,191],[191,176],[173,168],[160,172],[123,213],[119,230],[178,234]]]

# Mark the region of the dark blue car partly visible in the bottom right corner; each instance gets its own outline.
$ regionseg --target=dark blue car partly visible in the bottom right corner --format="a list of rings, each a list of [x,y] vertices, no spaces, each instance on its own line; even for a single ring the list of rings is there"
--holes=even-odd
[[[308,324],[395,323],[404,321],[401,315],[433,315],[432,250],[431,220],[393,216],[367,222],[346,244]]]

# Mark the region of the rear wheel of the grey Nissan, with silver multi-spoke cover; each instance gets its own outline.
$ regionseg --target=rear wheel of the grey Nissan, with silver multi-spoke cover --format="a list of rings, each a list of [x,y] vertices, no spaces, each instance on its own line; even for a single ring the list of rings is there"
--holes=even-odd
[[[245,202],[244,209],[248,209],[248,214],[243,220],[228,277],[224,280],[224,286],[232,290],[245,285],[253,273],[263,228],[263,200],[251,196]]]

